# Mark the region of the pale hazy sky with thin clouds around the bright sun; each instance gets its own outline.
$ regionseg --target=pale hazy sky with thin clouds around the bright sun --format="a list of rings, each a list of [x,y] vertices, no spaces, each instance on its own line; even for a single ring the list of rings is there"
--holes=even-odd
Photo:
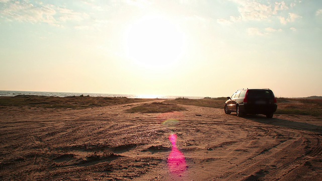
[[[320,0],[0,0],[0,90],[322,96]]]

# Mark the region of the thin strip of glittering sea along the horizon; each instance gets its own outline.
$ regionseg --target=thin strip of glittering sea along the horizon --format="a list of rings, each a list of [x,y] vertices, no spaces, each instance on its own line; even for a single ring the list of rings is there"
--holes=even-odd
[[[31,92],[31,91],[0,91],[0,96],[14,97],[18,95],[28,96],[47,96],[47,97],[69,97],[69,96],[90,96],[90,97],[126,97],[129,99],[176,99],[176,98],[188,98],[188,99],[202,99],[203,97],[193,96],[162,96],[162,95],[130,95],[130,94],[97,94],[97,93],[60,93],[60,92]]]

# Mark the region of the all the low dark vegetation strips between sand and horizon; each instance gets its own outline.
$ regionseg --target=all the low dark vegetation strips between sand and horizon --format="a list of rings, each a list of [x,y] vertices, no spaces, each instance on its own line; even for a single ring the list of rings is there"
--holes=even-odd
[[[58,109],[86,109],[93,107],[113,106],[131,103],[143,103],[153,99],[128,99],[125,97],[90,97],[90,96],[72,96],[72,97],[45,97],[45,96],[26,96],[19,95],[15,97],[0,97],[0,108],[2,106],[29,106],[36,108],[58,108]],[[154,99],[155,100],[155,99]],[[227,98],[209,98],[188,99],[177,98],[175,100],[165,100],[163,103],[144,104],[127,110],[130,113],[165,113],[173,111],[184,111],[183,107],[178,105],[192,105],[209,108],[221,108]],[[322,117],[321,99],[291,99],[277,98],[277,111],[275,114],[289,115],[311,115]]]

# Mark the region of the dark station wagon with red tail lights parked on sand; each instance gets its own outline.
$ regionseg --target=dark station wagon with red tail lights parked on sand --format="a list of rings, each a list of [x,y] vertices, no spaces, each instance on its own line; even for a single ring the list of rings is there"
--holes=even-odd
[[[270,89],[239,89],[225,102],[225,113],[236,112],[238,117],[245,114],[264,114],[272,118],[277,101]]]

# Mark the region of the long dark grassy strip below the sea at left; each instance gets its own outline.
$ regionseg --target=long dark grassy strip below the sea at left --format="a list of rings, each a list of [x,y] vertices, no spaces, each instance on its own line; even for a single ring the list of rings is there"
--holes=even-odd
[[[86,109],[93,107],[113,106],[130,103],[141,103],[152,101],[152,99],[128,99],[125,97],[107,98],[90,96],[72,97],[46,97],[46,96],[26,96],[0,97],[0,106],[29,106],[40,108],[57,109]]]

